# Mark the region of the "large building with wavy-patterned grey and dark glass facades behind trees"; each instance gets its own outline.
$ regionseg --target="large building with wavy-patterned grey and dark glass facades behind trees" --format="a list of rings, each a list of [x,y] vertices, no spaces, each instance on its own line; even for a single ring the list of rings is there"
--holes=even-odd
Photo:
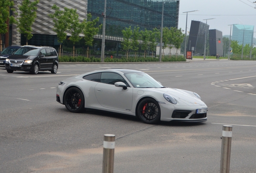
[[[17,6],[20,1],[14,1],[14,9],[19,12]],[[77,10],[79,19],[82,22],[91,13],[93,19],[99,17],[98,25],[103,23],[104,0],[52,0],[39,1],[37,4],[37,18],[32,26],[33,37],[28,40],[28,44],[41,46],[58,47],[58,39],[53,31],[54,23],[49,13],[53,13],[53,4],[63,10],[64,7]],[[179,0],[164,3],[163,27],[178,28]],[[122,30],[132,26],[140,27],[140,30],[160,29],[162,19],[162,0],[107,0],[106,8],[106,28],[105,28],[105,50],[116,50],[120,48],[122,41]],[[70,34],[68,34],[70,35]],[[81,34],[80,36],[83,36]],[[26,44],[23,34],[17,32],[15,24],[12,27],[12,44]],[[94,46],[101,49],[102,29],[95,35]],[[69,45],[70,46],[70,45]],[[77,43],[76,47],[82,47],[82,43]]]

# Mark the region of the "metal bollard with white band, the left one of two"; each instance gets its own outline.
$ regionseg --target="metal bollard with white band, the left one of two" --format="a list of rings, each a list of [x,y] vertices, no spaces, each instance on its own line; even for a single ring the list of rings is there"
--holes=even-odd
[[[115,135],[104,135],[102,173],[114,173]]]

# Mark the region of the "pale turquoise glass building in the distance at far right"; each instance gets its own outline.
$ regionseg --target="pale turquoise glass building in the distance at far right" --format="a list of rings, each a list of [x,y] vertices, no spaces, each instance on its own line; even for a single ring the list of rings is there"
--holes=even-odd
[[[240,45],[243,44],[244,41],[244,46],[246,44],[251,46],[253,40],[253,32],[253,25],[233,25],[232,40],[238,41],[238,44]]]

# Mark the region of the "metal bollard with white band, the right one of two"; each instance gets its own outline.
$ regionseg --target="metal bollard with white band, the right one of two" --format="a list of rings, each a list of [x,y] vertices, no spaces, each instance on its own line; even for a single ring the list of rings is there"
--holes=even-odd
[[[232,139],[232,126],[223,125],[220,173],[229,173],[231,139]]]

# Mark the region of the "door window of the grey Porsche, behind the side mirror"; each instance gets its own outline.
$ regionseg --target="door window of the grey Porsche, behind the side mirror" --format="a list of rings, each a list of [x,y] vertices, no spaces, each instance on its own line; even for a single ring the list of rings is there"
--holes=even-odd
[[[113,72],[101,73],[101,83],[114,85],[116,82],[124,82],[128,86],[127,82],[119,74]]]

